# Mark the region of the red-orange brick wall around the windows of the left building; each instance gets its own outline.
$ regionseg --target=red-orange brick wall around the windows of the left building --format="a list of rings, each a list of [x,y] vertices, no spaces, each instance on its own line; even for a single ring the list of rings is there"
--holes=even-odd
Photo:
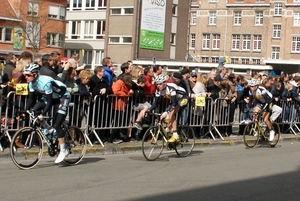
[[[28,0],[12,0],[10,1],[11,4],[7,3],[7,0],[3,0],[2,6],[4,6],[3,10],[5,10],[7,13],[14,13],[13,15],[10,14],[10,16],[5,16],[6,18],[3,18],[0,14],[0,26],[4,28],[14,28],[14,27],[22,27],[24,30],[26,30],[26,24],[27,22],[40,22],[40,46],[38,49],[38,54],[44,54],[49,53],[54,50],[63,52],[63,46],[62,47],[51,47],[46,45],[46,38],[47,33],[60,33],[64,35],[65,33],[65,20],[56,20],[56,19],[49,19],[48,13],[49,13],[49,5],[58,5],[61,7],[66,7],[67,1],[64,0],[49,0],[49,1],[42,1],[37,0],[34,2],[37,2],[39,4],[39,10],[38,10],[38,17],[30,17],[27,15],[28,11]],[[11,7],[11,6],[13,7]],[[13,11],[14,10],[14,11]],[[9,18],[10,20],[7,20]],[[14,33],[12,32],[11,37],[14,37]],[[13,50],[13,41],[11,42],[4,42],[0,41],[1,50],[0,54],[7,54],[9,52],[14,52],[15,54],[21,54],[23,51],[31,51],[31,48],[27,48],[25,45],[26,41],[26,34],[25,31],[22,35],[23,39],[23,48],[20,50]]]

